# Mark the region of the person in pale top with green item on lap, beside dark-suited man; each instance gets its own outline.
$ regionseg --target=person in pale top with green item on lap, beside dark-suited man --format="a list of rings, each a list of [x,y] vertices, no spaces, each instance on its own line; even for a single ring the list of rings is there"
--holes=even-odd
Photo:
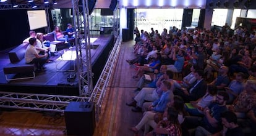
[[[185,103],[186,111],[192,116],[202,116],[203,109],[210,105],[210,103],[215,100],[215,94],[217,92],[217,87],[213,84],[207,84],[207,93],[199,98],[197,101],[190,101],[190,103]]]

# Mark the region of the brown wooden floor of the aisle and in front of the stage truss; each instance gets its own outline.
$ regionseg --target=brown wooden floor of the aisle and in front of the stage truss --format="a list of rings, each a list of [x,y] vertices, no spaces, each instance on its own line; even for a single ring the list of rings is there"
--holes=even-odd
[[[132,113],[130,107],[125,105],[134,97],[132,90],[138,81],[132,79],[136,72],[135,67],[125,61],[134,58],[132,45],[133,41],[122,44],[94,136],[134,135],[128,128],[135,126],[142,118],[142,113]],[[0,135],[66,135],[64,116],[43,114],[38,111],[4,110],[0,115]]]

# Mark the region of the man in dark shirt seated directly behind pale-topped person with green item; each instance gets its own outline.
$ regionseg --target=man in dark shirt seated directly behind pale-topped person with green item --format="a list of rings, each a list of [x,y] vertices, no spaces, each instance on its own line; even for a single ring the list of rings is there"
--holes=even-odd
[[[224,87],[229,84],[228,66],[221,66],[217,78],[210,84],[214,84],[218,90],[224,90]]]

